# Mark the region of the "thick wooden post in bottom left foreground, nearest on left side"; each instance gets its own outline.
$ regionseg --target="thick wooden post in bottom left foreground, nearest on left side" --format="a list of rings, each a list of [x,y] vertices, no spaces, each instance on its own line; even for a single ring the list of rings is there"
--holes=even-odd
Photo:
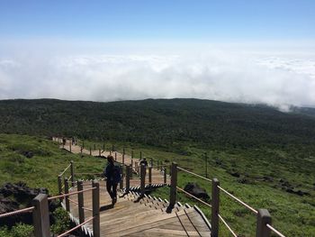
[[[32,211],[35,237],[50,237],[48,198],[45,194],[39,194],[32,199],[35,207]]]

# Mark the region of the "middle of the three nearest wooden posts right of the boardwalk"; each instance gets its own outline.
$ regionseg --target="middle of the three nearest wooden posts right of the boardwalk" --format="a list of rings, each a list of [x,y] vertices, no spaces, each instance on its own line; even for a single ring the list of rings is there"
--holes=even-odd
[[[218,178],[212,178],[211,237],[219,236],[220,189],[218,186],[220,186]]]

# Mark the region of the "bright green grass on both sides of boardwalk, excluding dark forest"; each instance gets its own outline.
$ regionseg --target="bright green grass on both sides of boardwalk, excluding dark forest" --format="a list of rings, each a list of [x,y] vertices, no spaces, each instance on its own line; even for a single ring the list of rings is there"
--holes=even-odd
[[[79,143],[82,141],[78,141]],[[103,142],[85,141],[85,147],[103,148]],[[105,148],[112,147],[111,141]],[[238,196],[254,208],[266,208],[273,217],[273,225],[287,236],[315,236],[315,174],[314,156],[305,156],[303,150],[271,150],[270,148],[247,150],[201,150],[193,145],[185,145],[180,155],[166,152],[161,148],[134,143],[115,143],[116,150],[126,148],[139,158],[153,157],[154,160],[176,161],[180,167],[205,175],[203,153],[208,153],[208,177],[219,178],[220,186]],[[31,150],[34,156],[28,159],[23,151]],[[0,183],[24,181],[30,187],[48,187],[56,194],[57,177],[74,160],[76,172],[102,172],[105,160],[70,154],[59,150],[58,144],[45,138],[0,134]],[[166,162],[169,161],[169,162]],[[238,173],[239,177],[231,174]],[[67,173],[67,175],[69,175]],[[93,178],[85,176],[80,178]],[[283,180],[281,182],[281,179]],[[302,190],[310,196],[290,194],[283,189],[287,182],[294,191]],[[197,182],[211,194],[211,183],[184,172],[178,173],[178,186]],[[152,195],[168,199],[168,187],[159,188]],[[178,193],[178,201],[196,204],[190,198]],[[210,217],[211,210],[201,204],[204,214]],[[226,219],[238,236],[254,236],[256,216],[239,205],[229,196],[220,193],[220,214]],[[226,228],[220,225],[220,234],[229,236]]]

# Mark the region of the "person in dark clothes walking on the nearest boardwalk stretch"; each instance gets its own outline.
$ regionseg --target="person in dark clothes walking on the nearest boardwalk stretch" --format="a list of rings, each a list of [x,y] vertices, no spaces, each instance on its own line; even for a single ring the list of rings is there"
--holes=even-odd
[[[117,202],[117,186],[121,181],[121,169],[114,165],[114,160],[111,155],[107,157],[107,166],[104,169],[104,176],[106,177],[106,189],[112,198],[112,205]]]

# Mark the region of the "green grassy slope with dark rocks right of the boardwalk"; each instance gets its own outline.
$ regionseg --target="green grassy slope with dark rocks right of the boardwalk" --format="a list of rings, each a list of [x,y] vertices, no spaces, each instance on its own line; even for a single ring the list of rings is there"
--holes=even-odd
[[[81,141],[79,141],[81,142]],[[86,147],[110,149],[111,141],[85,141]],[[315,160],[303,156],[303,150],[271,150],[267,148],[252,150],[200,150],[186,146],[189,156],[166,152],[156,147],[132,143],[115,143],[115,149],[126,153],[134,151],[134,156],[154,158],[166,164],[175,161],[180,167],[193,170],[205,176],[204,151],[208,155],[208,177],[219,178],[220,186],[228,190],[254,208],[266,208],[273,218],[273,225],[287,236],[315,236]],[[298,160],[298,161],[297,161]],[[233,177],[238,173],[239,177]],[[281,179],[293,187],[293,190],[308,192],[310,196],[290,194],[283,189]],[[180,171],[178,186],[184,188],[188,182],[196,182],[211,195],[211,183],[195,178]],[[243,182],[243,183],[242,183]],[[169,198],[169,188],[157,189],[152,195]],[[178,201],[198,205],[208,218],[211,210],[191,198],[178,193]],[[236,203],[229,196],[220,192],[220,214],[230,224],[238,236],[254,236],[256,231],[256,214]],[[220,224],[220,234],[229,236],[226,227]]]

